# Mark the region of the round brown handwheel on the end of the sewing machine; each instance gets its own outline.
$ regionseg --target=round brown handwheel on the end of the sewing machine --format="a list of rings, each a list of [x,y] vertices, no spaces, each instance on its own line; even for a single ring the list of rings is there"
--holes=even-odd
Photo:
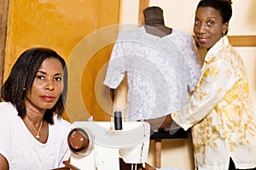
[[[74,128],[68,134],[67,142],[69,149],[76,155],[88,155],[92,145],[90,133],[82,128]]]

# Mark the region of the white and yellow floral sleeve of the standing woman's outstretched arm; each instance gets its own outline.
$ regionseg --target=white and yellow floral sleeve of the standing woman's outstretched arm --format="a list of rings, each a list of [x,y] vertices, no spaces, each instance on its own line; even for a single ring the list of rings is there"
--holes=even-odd
[[[201,80],[190,102],[172,113],[172,119],[184,130],[200,122],[235,84],[234,71],[224,60],[205,65]]]

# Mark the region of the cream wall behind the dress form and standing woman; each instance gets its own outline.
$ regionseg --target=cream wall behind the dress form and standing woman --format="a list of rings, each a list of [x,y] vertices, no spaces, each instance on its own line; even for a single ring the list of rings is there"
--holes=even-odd
[[[164,10],[166,26],[183,29],[193,34],[195,8],[199,0],[150,0],[149,6],[160,6]],[[121,23],[137,25],[138,0],[123,0]],[[256,35],[254,0],[233,0],[233,16],[229,35]],[[124,8],[125,7],[125,8]],[[237,48],[247,67],[247,75],[256,104],[256,48]],[[254,108],[256,111],[256,107]],[[194,167],[192,146],[189,139],[165,140],[162,144],[162,167],[177,167],[190,170]],[[154,142],[151,141],[148,162],[154,165]]]

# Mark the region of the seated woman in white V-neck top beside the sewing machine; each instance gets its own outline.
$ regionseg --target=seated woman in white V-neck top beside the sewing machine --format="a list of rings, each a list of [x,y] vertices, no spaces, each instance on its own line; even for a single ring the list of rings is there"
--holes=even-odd
[[[67,95],[64,59],[49,48],[27,49],[1,94],[0,169],[65,167],[71,124],[61,119]]]

